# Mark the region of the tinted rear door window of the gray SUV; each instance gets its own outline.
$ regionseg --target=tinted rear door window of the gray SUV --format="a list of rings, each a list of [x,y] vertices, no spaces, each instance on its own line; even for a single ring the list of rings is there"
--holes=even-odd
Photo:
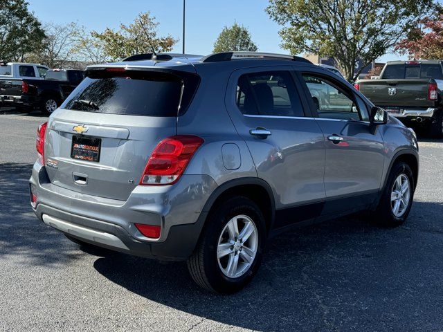
[[[243,114],[304,116],[296,86],[287,71],[242,75],[236,100]]]

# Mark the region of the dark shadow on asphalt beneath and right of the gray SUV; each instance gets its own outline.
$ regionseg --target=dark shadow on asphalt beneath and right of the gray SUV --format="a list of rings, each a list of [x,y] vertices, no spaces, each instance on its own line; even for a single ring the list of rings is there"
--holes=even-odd
[[[442,272],[443,226],[432,215],[443,215],[443,205],[415,202],[400,228],[347,218],[287,232],[269,244],[253,282],[229,296],[201,290],[183,262],[115,254],[94,268],[154,302],[256,331],[418,328],[441,321],[428,302],[443,298],[442,279],[435,278]],[[417,308],[420,317],[403,315]]]

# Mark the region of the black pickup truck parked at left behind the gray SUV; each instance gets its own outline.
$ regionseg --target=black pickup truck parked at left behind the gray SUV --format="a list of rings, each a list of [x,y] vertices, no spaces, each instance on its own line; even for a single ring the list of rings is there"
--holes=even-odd
[[[62,104],[84,78],[83,71],[51,69],[44,80],[0,78],[0,101],[28,113],[38,107],[49,115]]]

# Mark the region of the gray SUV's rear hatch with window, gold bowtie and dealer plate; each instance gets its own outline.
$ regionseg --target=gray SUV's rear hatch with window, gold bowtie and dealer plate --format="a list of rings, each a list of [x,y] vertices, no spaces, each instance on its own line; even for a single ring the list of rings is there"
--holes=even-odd
[[[125,201],[156,145],[176,134],[198,76],[116,67],[87,75],[51,116],[46,170],[60,187]]]

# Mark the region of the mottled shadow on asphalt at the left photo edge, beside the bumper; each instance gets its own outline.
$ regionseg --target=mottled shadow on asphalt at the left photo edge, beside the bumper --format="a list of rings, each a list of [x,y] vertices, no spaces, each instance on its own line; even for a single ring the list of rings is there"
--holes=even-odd
[[[48,266],[79,258],[84,254],[78,247],[43,227],[30,207],[32,169],[28,163],[0,164],[0,259],[16,255],[24,264]]]

